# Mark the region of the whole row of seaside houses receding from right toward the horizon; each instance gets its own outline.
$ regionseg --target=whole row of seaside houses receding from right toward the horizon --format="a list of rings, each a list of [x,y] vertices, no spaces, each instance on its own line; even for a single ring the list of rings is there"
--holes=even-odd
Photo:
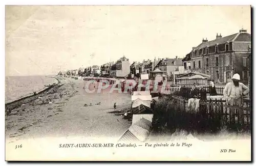
[[[189,72],[207,74],[217,84],[225,84],[231,80],[234,73],[239,73],[245,84],[249,82],[251,56],[251,35],[246,30],[216,39],[202,40],[198,46],[187,53],[184,58],[156,58],[130,63],[125,56],[116,62],[105,63],[101,66],[93,65],[77,70],[68,70],[66,75],[103,76],[113,78],[133,79],[141,74],[148,74],[149,79],[174,81]]]

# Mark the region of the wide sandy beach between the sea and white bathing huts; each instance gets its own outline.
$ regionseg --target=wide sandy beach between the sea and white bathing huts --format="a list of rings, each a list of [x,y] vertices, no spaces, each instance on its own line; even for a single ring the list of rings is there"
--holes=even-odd
[[[12,110],[6,117],[6,143],[37,137],[116,137],[129,128],[130,121],[111,113],[131,106],[127,93],[87,93],[83,80],[59,77],[63,84],[41,98]],[[93,87],[90,87],[93,88]],[[97,85],[96,85],[97,88]],[[56,91],[55,91],[56,90]],[[63,94],[60,98],[59,94]],[[43,104],[43,100],[46,101]],[[84,106],[85,103],[92,106]],[[95,105],[101,102],[100,105]]]

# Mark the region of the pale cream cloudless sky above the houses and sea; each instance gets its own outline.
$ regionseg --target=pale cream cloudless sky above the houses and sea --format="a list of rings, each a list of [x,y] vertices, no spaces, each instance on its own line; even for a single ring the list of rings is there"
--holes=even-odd
[[[250,6],[6,6],[6,76],[185,57],[202,38],[251,33]]]

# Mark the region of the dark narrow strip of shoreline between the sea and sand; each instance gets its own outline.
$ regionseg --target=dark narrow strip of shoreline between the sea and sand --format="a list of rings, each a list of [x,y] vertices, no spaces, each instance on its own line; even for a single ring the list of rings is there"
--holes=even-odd
[[[57,76],[52,77],[52,76],[48,76],[50,78],[55,78],[58,82],[51,84],[50,87],[47,87],[45,89],[39,90],[38,92],[36,92],[36,94],[32,94],[32,95],[27,95],[24,97],[21,97],[19,99],[16,99],[14,101],[5,103],[5,112],[7,112],[7,110],[10,112],[12,109],[17,108],[18,106],[21,106],[22,104],[26,104],[28,102],[31,102],[33,100],[35,100],[37,97],[40,97],[43,93],[45,93],[46,91],[49,91],[53,88],[58,88],[60,86],[62,86],[62,82],[57,78]],[[31,93],[30,93],[31,94]]]

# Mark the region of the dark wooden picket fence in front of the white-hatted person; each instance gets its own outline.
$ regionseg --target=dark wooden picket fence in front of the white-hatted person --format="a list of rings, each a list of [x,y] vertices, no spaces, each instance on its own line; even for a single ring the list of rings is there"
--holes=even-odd
[[[188,99],[181,96],[172,96],[172,98],[181,111],[188,111]],[[230,103],[221,100],[200,100],[197,113],[209,121],[220,119],[220,126],[226,125],[230,128],[239,126],[243,129],[250,129],[251,106],[250,101],[247,100],[243,101],[242,105],[237,103],[230,105]]]

